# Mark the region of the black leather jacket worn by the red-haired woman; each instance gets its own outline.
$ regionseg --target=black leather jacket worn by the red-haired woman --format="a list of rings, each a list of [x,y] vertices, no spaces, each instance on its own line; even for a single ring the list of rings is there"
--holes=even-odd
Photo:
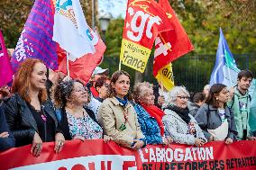
[[[32,144],[35,131],[38,132],[36,121],[32,116],[27,103],[19,94],[13,94],[3,103],[5,108],[5,117],[10,130],[16,139],[16,147]],[[50,102],[42,103],[42,112],[47,112],[55,122],[56,130],[53,134],[59,132],[59,123],[57,121],[55,111]]]

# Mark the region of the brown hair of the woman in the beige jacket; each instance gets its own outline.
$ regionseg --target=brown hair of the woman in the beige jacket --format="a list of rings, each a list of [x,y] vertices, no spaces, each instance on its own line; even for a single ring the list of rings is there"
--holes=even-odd
[[[110,86],[109,86],[109,96],[108,97],[114,97],[116,96],[115,94],[115,91],[114,91],[114,88],[112,87],[112,84],[115,84],[116,81],[118,80],[119,76],[122,76],[122,75],[125,75],[125,76],[128,76],[129,79],[131,80],[131,77],[130,75],[126,72],[126,71],[123,71],[123,70],[118,70],[118,71],[115,71],[113,73],[113,75],[111,76],[111,80],[110,80]],[[132,100],[132,95],[130,93],[130,89],[129,89],[129,92],[128,94],[126,95],[128,100]]]

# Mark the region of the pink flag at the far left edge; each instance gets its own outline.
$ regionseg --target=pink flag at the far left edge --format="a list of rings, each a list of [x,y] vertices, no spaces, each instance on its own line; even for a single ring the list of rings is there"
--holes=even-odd
[[[2,32],[0,31],[0,87],[7,85],[13,80],[13,69],[10,63],[10,58],[5,48],[5,40]]]

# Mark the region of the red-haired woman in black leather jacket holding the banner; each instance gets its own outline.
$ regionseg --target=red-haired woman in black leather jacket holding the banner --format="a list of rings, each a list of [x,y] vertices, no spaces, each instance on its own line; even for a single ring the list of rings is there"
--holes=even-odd
[[[31,153],[35,157],[41,154],[42,142],[55,140],[54,150],[59,153],[65,141],[52,104],[47,102],[46,72],[40,59],[25,59],[15,75],[13,95],[4,102],[6,121],[16,147],[32,144]]]

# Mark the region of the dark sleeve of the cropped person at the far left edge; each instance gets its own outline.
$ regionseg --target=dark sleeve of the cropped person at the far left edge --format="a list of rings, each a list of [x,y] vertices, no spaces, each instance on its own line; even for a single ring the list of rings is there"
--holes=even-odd
[[[0,133],[7,131],[9,133],[8,138],[0,138],[0,151],[3,151],[7,148],[15,147],[15,139],[13,133],[9,130],[8,125],[5,120],[4,108],[0,104]]]

